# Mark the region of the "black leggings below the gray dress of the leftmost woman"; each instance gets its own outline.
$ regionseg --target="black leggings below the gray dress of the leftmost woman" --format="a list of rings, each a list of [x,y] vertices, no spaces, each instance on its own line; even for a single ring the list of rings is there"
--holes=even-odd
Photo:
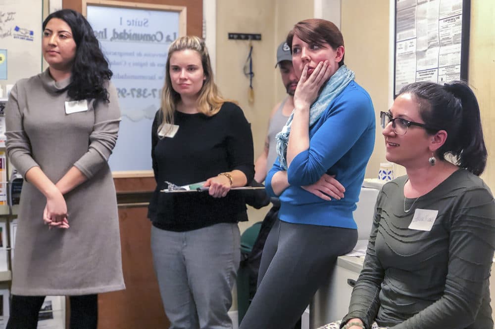
[[[96,329],[98,295],[70,296],[70,329]],[[36,329],[45,296],[12,295],[7,329]]]

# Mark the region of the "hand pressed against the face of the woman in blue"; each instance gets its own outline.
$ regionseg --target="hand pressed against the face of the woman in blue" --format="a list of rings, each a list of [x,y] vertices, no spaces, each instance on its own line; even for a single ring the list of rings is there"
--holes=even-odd
[[[330,79],[331,67],[328,61],[319,62],[314,71],[308,76],[309,64],[304,65],[301,78],[294,93],[294,107],[309,109],[318,97],[321,86]]]

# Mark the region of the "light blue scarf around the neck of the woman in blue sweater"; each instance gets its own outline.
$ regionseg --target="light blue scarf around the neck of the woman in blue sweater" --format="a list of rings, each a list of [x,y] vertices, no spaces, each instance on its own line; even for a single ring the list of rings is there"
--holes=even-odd
[[[346,65],[342,65],[332,77],[327,81],[323,90],[318,95],[316,101],[309,108],[309,126],[317,122],[325,110],[330,106],[330,103],[337,97],[347,84],[354,80],[354,72],[349,70]],[[287,143],[289,142],[289,134],[291,133],[292,119],[294,111],[287,120],[287,123],[279,132],[275,139],[277,140],[277,154],[279,156],[280,165],[287,170]]]

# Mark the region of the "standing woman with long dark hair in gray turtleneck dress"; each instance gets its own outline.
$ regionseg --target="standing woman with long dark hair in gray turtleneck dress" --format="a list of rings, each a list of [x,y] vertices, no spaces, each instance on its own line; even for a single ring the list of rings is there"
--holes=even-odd
[[[18,81],[6,148],[23,175],[7,328],[36,328],[46,295],[69,295],[71,328],[97,328],[100,292],[124,289],[115,187],[117,93],[98,40],[78,12],[43,22],[49,68]]]

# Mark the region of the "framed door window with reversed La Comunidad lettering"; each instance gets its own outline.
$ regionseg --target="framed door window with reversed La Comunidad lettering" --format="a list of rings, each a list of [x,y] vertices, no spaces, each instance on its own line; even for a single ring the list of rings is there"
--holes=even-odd
[[[170,44],[186,33],[186,7],[83,1],[113,72],[122,121],[109,165],[114,177],[153,176],[151,124],[160,107]]]

